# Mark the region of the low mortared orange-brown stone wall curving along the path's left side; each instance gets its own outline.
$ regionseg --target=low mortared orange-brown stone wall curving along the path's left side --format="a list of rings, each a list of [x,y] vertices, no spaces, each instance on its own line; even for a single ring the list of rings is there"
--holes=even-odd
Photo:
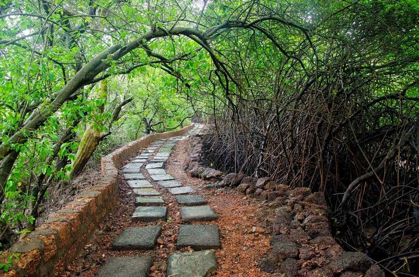
[[[0,262],[3,262],[10,252],[19,255],[11,270],[7,273],[0,270],[0,277],[59,276],[117,204],[118,168],[151,142],[182,135],[193,126],[146,135],[103,157],[102,178],[96,185],[82,191],[27,238],[0,256]]]

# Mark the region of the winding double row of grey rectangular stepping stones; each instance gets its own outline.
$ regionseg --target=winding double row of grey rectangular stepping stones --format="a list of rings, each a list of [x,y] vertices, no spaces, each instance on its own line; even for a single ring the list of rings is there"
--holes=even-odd
[[[165,219],[167,207],[165,199],[156,188],[167,189],[176,196],[176,201],[182,205],[180,217],[182,222],[217,220],[217,215],[207,201],[196,194],[190,186],[183,186],[165,170],[168,160],[177,140],[196,135],[203,125],[197,124],[186,136],[173,137],[155,141],[141,154],[133,157],[122,168],[124,178],[133,192],[138,195],[137,206],[132,215],[133,221],[151,222]],[[141,174],[141,168],[146,170],[150,178]],[[128,227],[114,241],[113,250],[154,249],[156,241],[162,233],[162,227]],[[184,224],[179,228],[176,247],[190,246],[197,250],[190,253],[172,253],[167,261],[167,276],[206,277],[216,271],[215,255],[212,250],[220,248],[220,235],[217,225]],[[152,254],[141,256],[109,258],[97,276],[148,276],[152,266]]]

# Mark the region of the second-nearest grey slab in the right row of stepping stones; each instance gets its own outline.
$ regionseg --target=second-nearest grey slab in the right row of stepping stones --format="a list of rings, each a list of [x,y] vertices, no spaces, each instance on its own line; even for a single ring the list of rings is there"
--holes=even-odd
[[[177,235],[178,249],[191,246],[194,250],[220,248],[220,231],[217,225],[181,225]]]

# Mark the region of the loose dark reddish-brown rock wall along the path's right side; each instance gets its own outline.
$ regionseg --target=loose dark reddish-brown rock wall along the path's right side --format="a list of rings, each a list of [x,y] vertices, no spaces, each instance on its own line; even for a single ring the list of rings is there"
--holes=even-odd
[[[258,198],[267,212],[261,217],[271,230],[271,247],[259,261],[275,277],[384,277],[362,252],[345,251],[332,237],[329,208],[322,193],[291,188],[268,177],[224,174],[208,167],[202,136],[194,137],[184,169],[191,177],[210,180],[204,188],[231,187]]]

